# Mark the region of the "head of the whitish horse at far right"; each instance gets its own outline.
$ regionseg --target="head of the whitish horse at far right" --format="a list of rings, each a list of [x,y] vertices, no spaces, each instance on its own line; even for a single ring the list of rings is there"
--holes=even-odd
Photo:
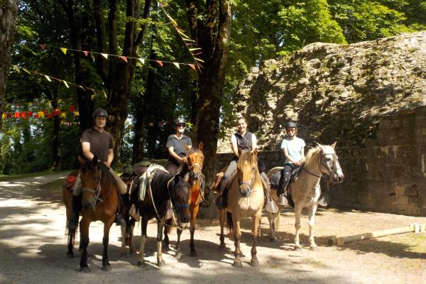
[[[337,142],[334,142],[330,146],[317,143],[320,148],[318,165],[321,172],[328,175],[332,182],[340,183],[344,181],[344,174],[339,164],[339,158],[337,158],[336,152],[334,151],[336,143]]]

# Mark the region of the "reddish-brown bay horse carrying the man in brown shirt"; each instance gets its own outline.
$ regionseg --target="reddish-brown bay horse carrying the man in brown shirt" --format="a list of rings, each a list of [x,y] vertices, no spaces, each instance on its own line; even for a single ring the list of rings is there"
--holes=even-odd
[[[102,271],[111,271],[108,261],[109,229],[116,216],[119,202],[119,190],[116,180],[109,173],[109,168],[104,163],[98,163],[96,155],[92,161],[82,163],[80,168],[82,181],[82,219],[80,221],[80,271],[89,272],[87,265],[87,246],[89,245],[89,226],[93,221],[104,223],[104,237],[102,244]],[[70,236],[75,236],[75,230],[70,230]],[[72,238],[69,238],[72,241]],[[72,249],[70,242],[68,248]]]

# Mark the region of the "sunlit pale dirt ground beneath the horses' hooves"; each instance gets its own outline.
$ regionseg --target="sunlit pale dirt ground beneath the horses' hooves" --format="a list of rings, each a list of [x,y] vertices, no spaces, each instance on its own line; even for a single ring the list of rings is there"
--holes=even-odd
[[[269,241],[268,221],[262,219],[258,242],[260,266],[251,267],[249,220],[244,223],[241,249],[243,268],[231,266],[234,243],[226,238],[219,251],[216,220],[200,220],[195,231],[198,256],[189,256],[189,231],[182,234],[183,257],[174,258],[176,234],[170,236],[171,251],[163,253],[167,266],[155,266],[155,227],[150,223],[144,268],[137,256],[119,257],[119,227],[111,228],[109,259],[113,268],[101,271],[102,224],[90,229],[91,273],[78,271],[80,253],[66,258],[65,208],[62,192],[45,183],[65,178],[49,175],[0,182],[0,283],[424,283],[426,234],[401,234],[359,241],[344,247],[327,246],[327,236],[361,234],[378,229],[426,224],[426,218],[373,212],[320,209],[317,213],[317,251],[307,249],[307,219],[302,219],[301,252],[293,251],[294,217],[282,212],[279,241]],[[141,235],[135,229],[136,240]],[[136,243],[138,245],[138,242]]]

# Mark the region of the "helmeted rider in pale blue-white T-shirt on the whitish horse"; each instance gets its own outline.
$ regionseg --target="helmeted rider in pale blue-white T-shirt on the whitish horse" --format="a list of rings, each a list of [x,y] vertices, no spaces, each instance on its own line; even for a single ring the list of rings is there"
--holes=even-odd
[[[285,132],[287,136],[281,143],[281,150],[283,150],[285,156],[284,177],[283,182],[280,182],[278,189],[278,204],[288,204],[288,183],[290,182],[291,173],[293,170],[305,161],[305,141],[302,138],[296,136],[297,125],[293,121],[289,121],[285,124]]]

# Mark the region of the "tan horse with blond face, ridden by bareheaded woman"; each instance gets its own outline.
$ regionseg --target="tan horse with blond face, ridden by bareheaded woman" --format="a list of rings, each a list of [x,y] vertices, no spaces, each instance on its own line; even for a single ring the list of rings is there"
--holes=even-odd
[[[226,209],[219,210],[219,222],[221,227],[220,246],[224,247],[224,222],[225,212],[228,216],[228,227],[234,232],[235,259],[234,267],[242,267],[240,240],[240,222],[244,216],[253,220],[251,236],[253,245],[251,247],[251,265],[258,266],[256,243],[258,229],[261,222],[262,208],[264,202],[263,185],[261,175],[258,171],[257,148],[253,151],[242,151],[237,165],[236,178],[231,181],[227,194]]]

